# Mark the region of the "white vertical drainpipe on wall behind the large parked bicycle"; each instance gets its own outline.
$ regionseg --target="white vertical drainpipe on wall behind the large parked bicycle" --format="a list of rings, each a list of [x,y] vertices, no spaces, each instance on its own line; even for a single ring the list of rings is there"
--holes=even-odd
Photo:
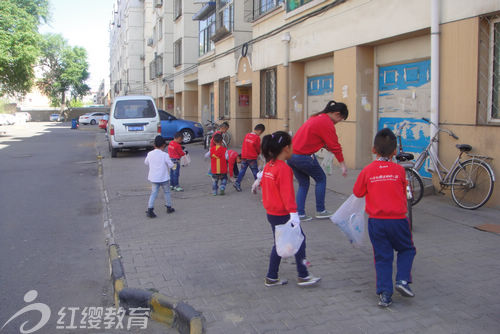
[[[431,1],[431,122],[439,124],[439,0]],[[431,138],[437,129],[430,126]],[[438,154],[438,145],[434,143],[432,149]]]

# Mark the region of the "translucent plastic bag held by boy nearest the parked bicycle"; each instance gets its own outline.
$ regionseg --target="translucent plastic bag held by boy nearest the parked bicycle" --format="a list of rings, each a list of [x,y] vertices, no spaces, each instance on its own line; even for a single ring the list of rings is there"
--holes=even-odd
[[[349,196],[330,220],[349,238],[354,246],[361,246],[365,239],[365,199]]]

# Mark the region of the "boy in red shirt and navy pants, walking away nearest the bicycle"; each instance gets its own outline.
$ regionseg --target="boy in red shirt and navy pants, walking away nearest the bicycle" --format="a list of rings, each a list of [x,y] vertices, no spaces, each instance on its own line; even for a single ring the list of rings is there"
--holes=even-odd
[[[377,273],[378,305],[392,304],[392,262],[398,253],[396,290],[405,297],[414,297],[410,289],[411,267],[416,254],[406,218],[406,174],[403,167],[391,162],[396,154],[397,141],[389,129],[375,136],[373,153],[377,160],[366,166],[354,184],[357,197],[366,196],[369,215],[368,233],[373,245]]]

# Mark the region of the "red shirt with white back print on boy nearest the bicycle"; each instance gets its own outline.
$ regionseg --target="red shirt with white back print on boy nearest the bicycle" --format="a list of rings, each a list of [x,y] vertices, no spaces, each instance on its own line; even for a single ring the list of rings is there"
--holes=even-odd
[[[352,190],[356,197],[366,196],[365,211],[370,218],[406,217],[406,174],[391,161],[373,161],[358,176]]]

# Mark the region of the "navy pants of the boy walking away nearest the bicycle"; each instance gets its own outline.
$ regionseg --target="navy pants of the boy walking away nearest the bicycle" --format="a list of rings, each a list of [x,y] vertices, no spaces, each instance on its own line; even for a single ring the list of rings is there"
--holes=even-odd
[[[410,224],[405,219],[368,219],[368,233],[373,245],[377,294],[392,294],[392,262],[398,253],[396,281],[411,283],[411,267],[416,254]]]

